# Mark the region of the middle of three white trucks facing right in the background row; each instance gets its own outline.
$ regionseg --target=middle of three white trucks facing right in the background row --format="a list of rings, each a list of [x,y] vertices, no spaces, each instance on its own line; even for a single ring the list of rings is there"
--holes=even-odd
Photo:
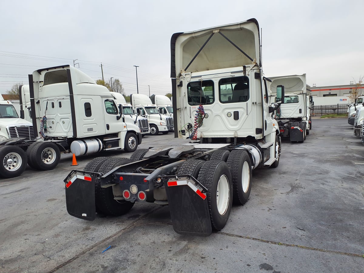
[[[159,113],[157,105],[153,104],[147,95],[131,94],[130,103],[134,113],[148,119],[151,135],[158,135],[159,132],[163,134],[173,132],[173,118]]]

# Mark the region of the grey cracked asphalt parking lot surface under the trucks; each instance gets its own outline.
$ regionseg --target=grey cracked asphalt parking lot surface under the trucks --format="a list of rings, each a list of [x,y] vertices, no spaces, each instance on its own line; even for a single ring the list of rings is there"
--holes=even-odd
[[[140,148],[186,142],[160,134]],[[78,157],[76,168],[130,155]],[[186,237],[154,203],[72,217],[63,179],[74,167],[62,155],[55,170],[0,180],[0,272],[363,272],[363,156],[347,119],[313,119],[304,143],[283,140],[277,169],[253,171],[249,201],[233,206],[224,229]]]

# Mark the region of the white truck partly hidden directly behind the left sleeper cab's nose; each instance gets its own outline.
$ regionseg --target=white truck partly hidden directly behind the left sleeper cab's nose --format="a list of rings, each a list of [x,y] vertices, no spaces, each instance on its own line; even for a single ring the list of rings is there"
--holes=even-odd
[[[149,135],[150,127],[148,119],[139,116],[137,113],[134,114],[131,104],[126,103],[126,100],[122,94],[111,92],[111,95],[115,98],[115,101],[118,105],[121,104],[125,122],[128,124],[136,124],[139,126],[142,135]]]

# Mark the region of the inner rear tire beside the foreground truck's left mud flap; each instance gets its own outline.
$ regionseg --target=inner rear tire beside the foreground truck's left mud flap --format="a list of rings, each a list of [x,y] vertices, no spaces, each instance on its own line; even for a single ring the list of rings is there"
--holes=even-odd
[[[117,166],[130,163],[127,158],[111,158],[103,162],[99,172],[106,174]],[[126,200],[115,200],[112,186],[102,188],[100,179],[95,181],[95,202],[99,212],[105,215],[119,216],[131,210],[134,203]]]

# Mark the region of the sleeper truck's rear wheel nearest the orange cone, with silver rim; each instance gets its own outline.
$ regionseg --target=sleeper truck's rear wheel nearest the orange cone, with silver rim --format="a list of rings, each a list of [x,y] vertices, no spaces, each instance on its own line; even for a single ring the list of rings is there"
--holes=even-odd
[[[48,171],[54,169],[61,158],[57,144],[50,141],[36,142],[29,154],[33,168]]]

